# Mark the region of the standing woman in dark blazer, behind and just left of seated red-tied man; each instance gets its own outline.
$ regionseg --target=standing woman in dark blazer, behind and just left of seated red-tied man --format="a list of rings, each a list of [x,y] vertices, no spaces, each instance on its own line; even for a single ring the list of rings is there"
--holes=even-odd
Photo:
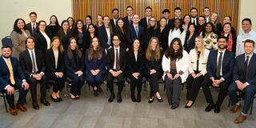
[[[110,17],[107,15],[104,16],[103,23],[104,24],[98,28],[98,39],[101,42],[101,46],[103,49],[110,49],[112,31],[112,27],[110,26]]]

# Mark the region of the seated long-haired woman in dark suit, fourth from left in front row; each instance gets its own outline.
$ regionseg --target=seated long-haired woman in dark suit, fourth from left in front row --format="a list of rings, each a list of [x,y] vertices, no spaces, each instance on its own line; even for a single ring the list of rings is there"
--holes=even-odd
[[[81,95],[81,88],[85,81],[83,74],[85,68],[82,51],[78,47],[75,38],[70,38],[68,49],[64,52],[64,63],[66,67],[66,77],[72,80],[70,98],[78,99]]]

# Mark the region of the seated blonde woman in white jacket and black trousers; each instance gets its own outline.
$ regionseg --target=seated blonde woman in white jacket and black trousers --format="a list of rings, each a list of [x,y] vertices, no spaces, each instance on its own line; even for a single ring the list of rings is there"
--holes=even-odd
[[[210,50],[205,48],[202,36],[196,37],[194,49],[190,50],[190,75],[186,80],[188,88],[186,99],[189,102],[186,103],[185,108],[193,106],[198,97],[198,91],[207,74],[206,66],[209,53]]]

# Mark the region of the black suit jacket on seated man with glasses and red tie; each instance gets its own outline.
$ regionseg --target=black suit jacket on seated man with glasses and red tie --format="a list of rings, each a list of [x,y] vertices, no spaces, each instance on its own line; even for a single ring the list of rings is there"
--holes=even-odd
[[[116,52],[114,50],[114,47],[112,47],[110,50],[107,50],[107,54],[106,54],[106,69],[107,71],[110,70],[114,70],[113,66],[114,66],[114,52]],[[126,50],[124,50],[121,46],[120,46],[120,51],[119,51],[119,69],[122,70],[122,72],[124,73],[124,71],[126,70]]]

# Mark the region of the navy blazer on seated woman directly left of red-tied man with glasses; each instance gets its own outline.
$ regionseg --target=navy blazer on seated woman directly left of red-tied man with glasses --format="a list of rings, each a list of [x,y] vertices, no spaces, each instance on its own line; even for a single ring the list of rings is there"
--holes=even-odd
[[[88,51],[89,49],[86,50],[86,57],[85,57],[85,62],[86,62],[86,74],[90,73],[90,70],[94,70],[94,59],[89,60],[88,59]],[[106,73],[106,54],[105,50],[102,50],[102,58],[101,59],[96,59],[96,69],[100,70],[102,73]]]

